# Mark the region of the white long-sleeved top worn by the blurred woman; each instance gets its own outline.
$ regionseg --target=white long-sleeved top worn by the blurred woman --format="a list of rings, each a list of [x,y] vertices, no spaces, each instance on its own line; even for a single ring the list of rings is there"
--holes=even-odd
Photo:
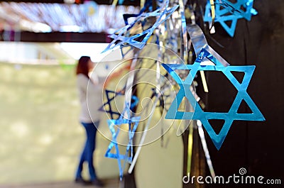
[[[77,74],[77,88],[79,90],[79,99],[81,103],[80,121],[83,123],[92,123],[99,121],[102,106],[102,84],[99,79],[89,80],[84,74]]]

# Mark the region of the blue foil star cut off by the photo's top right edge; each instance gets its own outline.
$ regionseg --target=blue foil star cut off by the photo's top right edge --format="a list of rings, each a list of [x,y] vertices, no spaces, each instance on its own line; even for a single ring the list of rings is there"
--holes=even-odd
[[[251,15],[256,15],[257,11],[253,9],[253,0],[237,0],[235,4],[228,0],[215,1],[215,20],[219,22],[224,30],[231,36],[234,36],[236,30],[236,23],[239,18],[246,18],[251,21]],[[246,11],[241,8],[244,7]],[[212,21],[211,5],[207,1],[204,13],[204,21]],[[226,22],[231,21],[231,26]]]

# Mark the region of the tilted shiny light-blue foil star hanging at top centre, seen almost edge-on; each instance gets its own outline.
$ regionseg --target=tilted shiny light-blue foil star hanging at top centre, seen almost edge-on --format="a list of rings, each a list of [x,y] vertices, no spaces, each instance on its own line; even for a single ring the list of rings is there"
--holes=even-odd
[[[123,45],[124,43],[128,43],[129,45],[132,45],[135,48],[142,49],[144,47],[144,45],[146,45],[147,40],[151,37],[151,35],[155,31],[155,28],[158,28],[158,26],[160,26],[161,23],[166,21],[168,19],[168,17],[170,17],[170,15],[172,15],[172,13],[176,9],[178,9],[178,5],[173,6],[171,9],[168,9],[168,1],[167,1],[165,9],[163,11],[161,11],[161,9],[157,9],[157,10],[150,12],[150,13],[142,13],[141,15],[137,16],[136,21],[133,21],[133,23],[131,23],[131,24],[125,26],[124,28],[121,28],[118,31],[114,32],[113,34],[109,35],[109,37],[114,38],[114,40],[112,40],[111,43],[109,43],[109,45],[107,46],[107,48],[103,52],[106,52],[107,50],[114,49],[114,48],[116,48],[116,46]],[[157,17],[157,20],[155,21],[153,26],[146,29],[142,33],[132,35],[131,37],[124,36],[124,33],[126,31],[128,31],[130,28],[132,28],[135,23],[137,23],[138,21],[141,21],[141,18],[147,18],[147,17],[151,17],[151,16]],[[165,16],[165,17],[163,18],[163,16]],[[115,33],[119,33],[119,34],[116,35]],[[137,41],[138,38],[143,38],[143,40],[141,40],[141,42],[138,42]],[[116,42],[118,42],[118,43],[116,43]],[[114,43],[116,43],[116,44],[114,44]]]

